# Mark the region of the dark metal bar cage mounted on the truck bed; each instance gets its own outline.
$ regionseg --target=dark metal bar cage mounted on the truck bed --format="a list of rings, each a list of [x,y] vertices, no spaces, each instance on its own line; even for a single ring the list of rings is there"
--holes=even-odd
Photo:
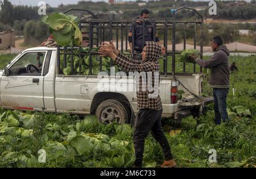
[[[188,21],[180,21],[176,20],[176,13],[179,10],[192,10],[195,11],[199,16],[200,20],[188,20]],[[71,9],[72,10],[72,9]],[[65,11],[64,13],[68,13],[69,11]],[[77,10],[77,9],[76,9]],[[86,11],[87,10],[81,10]],[[92,14],[92,13],[90,13]],[[193,74],[193,73],[202,73],[202,68],[200,67],[199,72],[196,71],[196,64],[193,64],[192,72],[188,73],[186,63],[183,63],[182,72],[177,73],[175,68],[176,63],[176,55],[180,54],[180,52],[176,51],[176,31],[183,32],[183,49],[186,49],[186,33],[189,28],[193,28],[193,48],[196,49],[196,42],[197,42],[197,30],[200,30],[200,58],[203,58],[203,16],[196,11],[195,9],[189,7],[181,7],[179,9],[172,9],[170,11],[170,15],[172,14],[172,18],[155,18],[155,19],[139,19],[142,21],[141,26],[137,27],[144,27],[143,28],[143,42],[144,42],[144,33],[146,27],[151,27],[153,31],[153,40],[156,38],[156,32],[163,32],[163,45],[166,48],[166,54],[161,56],[163,59],[161,68],[161,74],[164,77],[169,75],[175,76],[175,74]],[[95,16],[94,16],[95,17]],[[89,75],[92,75],[92,56],[96,55],[98,60],[100,61],[100,71],[102,70],[102,57],[98,56],[98,53],[92,51],[95,47],[100,47],[102,41],[110,41],[113,40],[115,46],[121,53],[129,52],[129,42],[128,42],[128,33],[131,28],[131,32],[133,32],[133,42],[132,42],[132,53],[130,54],[131,57],[134,56],[134,26],[138,19],[80,19],[79,27],[82,32],[83,40],[89,41]],[[146,20],[150,22],[150,24],[146,24]],[[180,29],[179,29],[180,28]],[[158,33],[159,34],[159,33]],[[162,34],[162,33],[161,33]],[[168,49],[168,41],[172,41],[172,48]],[[57,74],[63,74],[61,70],[61,66],[65,68],[67,66],[67,55],[69,55],[69,59],[71,60],[71,74],[82,74],[81,66],[82,66],[82,47],[57,47],[58,56],[57,56]],[[74,68],[74,51],[76,51],[76,55],[79,56],[79,70],[75,70]],[[61,59],[63,57],[63,59]],[[171,58],[171,59],[170,59]],[[168,59],[170,59],[170,63],[168,64]],[[114,63],[110,60],[110,66],[113,66]],[[169,67],[170,66],[170,67]]]

